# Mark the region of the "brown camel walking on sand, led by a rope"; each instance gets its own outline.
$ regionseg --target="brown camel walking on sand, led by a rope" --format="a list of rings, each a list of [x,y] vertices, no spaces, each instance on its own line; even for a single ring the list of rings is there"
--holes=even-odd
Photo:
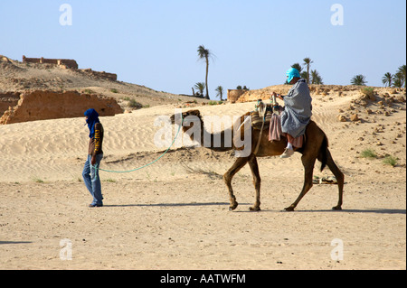
[[[201,144],[206,148],[209,148],[213,151],[223,152],[223,151],[230,151],[234,149],[238,149],[234,147],[225,147],[224,145],[224,135],[225,130],[220,132],[222,143],[220,147],[213,146],[213,134],[209,134],[207,131],[204,131],[204,121],[202,119],[201,113],[199,110],[190,110],[187,112],[182,113],[182,118],[185,120],[188,116],[196,116],[200,119],[201,124]],[[245,115],[241,116],[241,122],[245,116],[250,116],[250,112],[246,113]],[[175,119],[181,119],[181,116],[171,116],[171,120],[173,124],[180,125],[181,123],[175,123]],[[236,124],[235,124],[236,125]],[[190,133],[192,127],[194,126],[194,122],[190,123],[190,125],[185,125],[183,123],[183,131],[185,134],[189,135],[191,140],[194,141],[194,134]],[[232,130],[233,131],[233,130]],[[211,145],[204,145],[204,133],[211,135]],[[285,208],[287,211],[294,211],[296,209],[298,202],[307,194],[308,190],[311,189],[313,186],[313,172],[314,172],[314,165],[316,160],[321,162],[321,172],[324,170],[326,166],[329,167],[330,171],[334,173],[336,176],[336,181],[339,190],[339,200],[337,205],[332,209],[342,209],[342,197],[343,197],[343,189],[344,189],[344,181],[345,177],[343,172],[339,170],[336,166],[336,163],[332,159],[331,153],[328,149],[328,140],[327,135],[317,126],[314,121],[310,121],[307,129],[306,129],[306,141],[303,144],[303,147],[300,149],[296,149],[296,152],[301,153],[301,161],[304,165],[305,175],[304,175],[304,186],[297,198],[289,207]],[[260,138],[261,136],[261,138]],[[256,146],[258,144],[260,138],[260,146],[258,148],[257,153],[254,153],[256,150]],[[268,133],[260,133],[260,130],[253,129],[251,127],[251,153],[247,157],[237,157],[235,163],[233,163],[232,167],[223,175],[223,181],[225,182],[228,190],[229,190],[229,198],[230,198],[230,210],[234,210],[238,207],[238,202],[236,201],[236,197],[233,194],[232,190],[232,178],[233,176],[241,170],[241,168],[246,164],[249,163],[251,168],[251,173],[253,176],[253,184],[255,188],[255,202],[254,205],[250,208],[251,211],[260,211],[260,173],[259,173],[259,165],[257,162],[258,157],[266,157],[266,156],[278,156],[284,152],[285,147],[287,146],[287,138],[281,136],[280,141],[269,141]]]

